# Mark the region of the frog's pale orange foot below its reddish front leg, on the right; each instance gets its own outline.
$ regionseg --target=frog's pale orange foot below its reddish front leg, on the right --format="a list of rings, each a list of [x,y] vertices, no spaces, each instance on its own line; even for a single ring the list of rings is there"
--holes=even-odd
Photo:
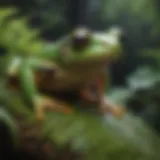
[[[100,112],[102,114],[111,114],[114,117],[121,118],[125,115],[126,109],[124,106],[116,105],[104,98],[100,105]]]

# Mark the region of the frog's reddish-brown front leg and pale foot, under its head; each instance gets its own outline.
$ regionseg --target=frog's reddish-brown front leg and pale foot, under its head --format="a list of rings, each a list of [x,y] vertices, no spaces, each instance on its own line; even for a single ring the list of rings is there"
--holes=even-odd
[[[85,102],[96,103],[99,106],[99,111],[102,114],[111,114],[115,117],[121,117],[125,114],[125,108],[111,102],[104,94],[104,90],[108,79],[105,73],[99,76],[95,82],[89,83],[81,91],[81,98]]]

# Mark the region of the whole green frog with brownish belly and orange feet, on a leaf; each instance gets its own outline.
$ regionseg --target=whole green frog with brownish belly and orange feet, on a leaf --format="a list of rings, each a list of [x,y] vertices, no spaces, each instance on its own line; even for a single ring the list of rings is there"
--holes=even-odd
[[[106,100],[107,65],[122,53],[121,31],[110,28],[93,31],[77,27],[51,45],[44,45],[37,55],[15,57],[8,67],[10,87],[20,90],[23,99],[35,110],[38,120],[45,110],[73,113],[72,107],[48,93],[78,93],[88,104],[97,104],[99,111],[121,113]],[[123,107],[120,107],[123,108]]]

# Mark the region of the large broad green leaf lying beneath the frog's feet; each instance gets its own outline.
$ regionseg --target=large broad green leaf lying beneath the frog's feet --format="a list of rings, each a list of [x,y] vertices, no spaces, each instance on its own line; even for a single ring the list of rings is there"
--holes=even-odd
[[[160,141],[140,120],[131,115],[122,120],[104,118],[79,112],[48,113],[42,135],[59,147],[71,144],[73,151],[83,153],[86,159],[112,160],[117,156],[123,160],[150,160],[156,155],[158,160]]]

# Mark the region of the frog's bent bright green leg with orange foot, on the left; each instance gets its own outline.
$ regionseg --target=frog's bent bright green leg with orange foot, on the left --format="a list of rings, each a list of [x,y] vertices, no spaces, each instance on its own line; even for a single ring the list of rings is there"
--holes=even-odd
[[[45,117],[45,109],[50,109],[52,111],[60,112],[70,112],[70,108],[65,104],[58,102],[57,100],[43,96],[38,91],[38,86],[35,81],[35,71],[46,69],[47,67],[55,69],[54,65],[49,65],[39,60],[23,60],[20,67],[20,84],[21,91],[25,100],[28,104],[32,105],[35,109],[36,118],[38,120],[43,120]],[[50,72],[50,74],[52,74]]]

